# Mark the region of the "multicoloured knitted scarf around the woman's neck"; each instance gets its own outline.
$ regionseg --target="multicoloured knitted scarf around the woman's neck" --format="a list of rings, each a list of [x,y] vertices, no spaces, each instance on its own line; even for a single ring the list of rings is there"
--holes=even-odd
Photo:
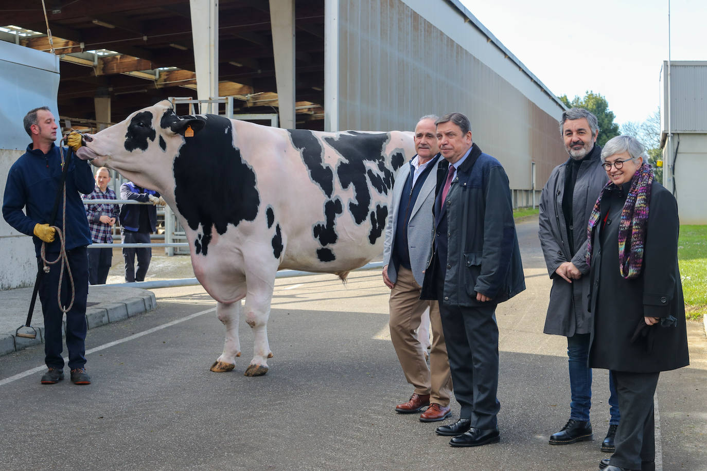
[[[640,275],[643,267],[643,244],[645,244],[645,225],[648,223],[651,184],[653,184],[653,169],[643,162],[631,178],[631,189],[629,189],[629,196],[626,197],[624,209],[621,210],[621,220],[619,220],[619,273],[626,280]],[[592,232],[599,222],[600,203],[604,194],[609,191],[609,187],[613,185],[609,181],[604,186],[594,205],[592,215],[589,217],[588,244],[585,254],[588,264],[592,258]]]

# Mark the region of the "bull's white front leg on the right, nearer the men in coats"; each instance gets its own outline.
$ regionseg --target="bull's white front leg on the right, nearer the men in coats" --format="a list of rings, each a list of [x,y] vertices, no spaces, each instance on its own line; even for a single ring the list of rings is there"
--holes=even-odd
[[[257,285],[261,282],[258,280]],[[267,341],[267,320],[270,316],[272,300],[271,285],[254,287],[251,280],[247,281],[248,290],[245,295],[245,321],[253,330],[253,359],[245,370],[245,376],[262,376],[267,373],[267,359],[272,352]]]

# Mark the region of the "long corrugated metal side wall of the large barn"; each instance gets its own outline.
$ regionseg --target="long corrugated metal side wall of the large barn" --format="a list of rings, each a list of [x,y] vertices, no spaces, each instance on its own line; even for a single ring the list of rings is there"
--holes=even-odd
[[[458,25],[450,27],[468,28],[474,47],[494,48],[504,60],[449,4],[433,3],[456,14]],[[531,188],[531,162],[542,189],[551,169],[567,159],[559,105],[543,103],[556,109],[551,116],[403,1],[340,0],[338,21],[338,129],[411,130],[424,114],[462,112],[474,142],[506,167],[512,189]],[[510,70],[531,82],[517,66]]]

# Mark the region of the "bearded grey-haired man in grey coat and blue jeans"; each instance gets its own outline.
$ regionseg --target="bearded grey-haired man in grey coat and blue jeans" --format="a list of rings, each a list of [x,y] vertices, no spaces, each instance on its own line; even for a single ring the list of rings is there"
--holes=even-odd
[[[591,440],[592,369],[587,366],[592,316],[587,310],[589,266],[585,227],[600,191],[607,183],[597,144],[597,117],[583,108],[562,113],[560,133],[569,159],[552,170],[540,196],[539,239],[552,280],[544,333],[567,338],[570,379],[570,418],[549,439],[551,445]],[[609,374],[609,431],[601,450],[614,451],[614,435],[621,419]]]

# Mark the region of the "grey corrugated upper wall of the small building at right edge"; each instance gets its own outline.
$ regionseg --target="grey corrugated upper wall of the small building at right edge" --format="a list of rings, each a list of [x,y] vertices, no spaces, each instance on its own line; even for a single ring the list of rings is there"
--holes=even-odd
[[[667,62],[662,78],[664,109],[667,109]],[[707,132],[707,61],[670,64],[670,121],[673,133]],[[667,123],[663,131],[667,131]]]

